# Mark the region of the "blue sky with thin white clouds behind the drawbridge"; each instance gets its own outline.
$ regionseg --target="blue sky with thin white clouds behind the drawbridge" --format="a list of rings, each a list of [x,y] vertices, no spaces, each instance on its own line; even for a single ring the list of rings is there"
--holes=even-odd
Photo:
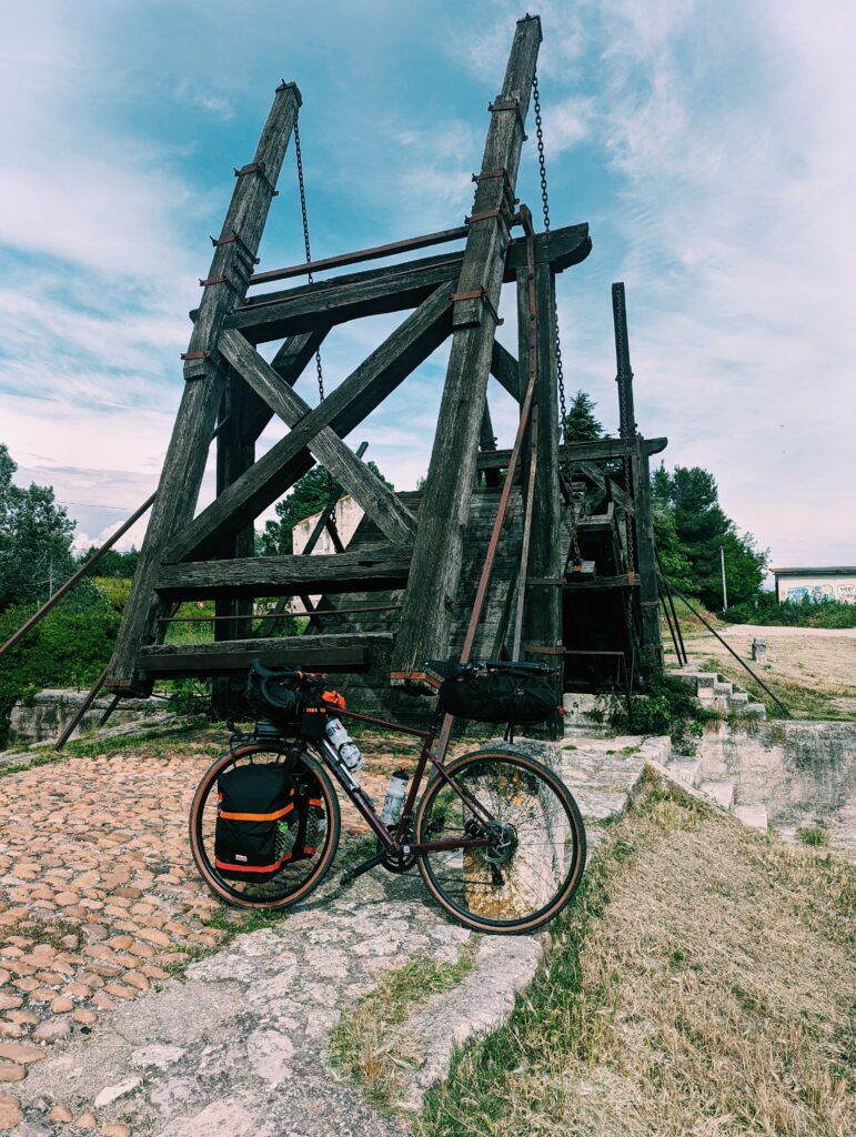
[[[81,547],[157,487],[189,310],[274,88],[300,86],[313,254],[459,225],[515,20],[506,0],[3,0],[0,441]],[[617,426],[624,281],[640,431],[700,465],[774,565],[856,564],[856,6],[548,0],[539,57],[568,391]],[[518,194],[538,217],[530,117]],[[293,150],[260,269],[304,259]],[[504,290],[499,338],[514,349]],[[346,324],[334,388],[401,316]],[[349,442],[424,475],[448,345]],[[298,384],[317,400],[314,370]],[[515,409],[491,383],[500,446]],[[282,428],[284,430],[284,428]],[[282,430],[263,435],[260,451]],[[200,504],[210,499],[213,472]],[[264,520],[264,518],[263,518]],[[123,542],[139,545],[143,524]]]

